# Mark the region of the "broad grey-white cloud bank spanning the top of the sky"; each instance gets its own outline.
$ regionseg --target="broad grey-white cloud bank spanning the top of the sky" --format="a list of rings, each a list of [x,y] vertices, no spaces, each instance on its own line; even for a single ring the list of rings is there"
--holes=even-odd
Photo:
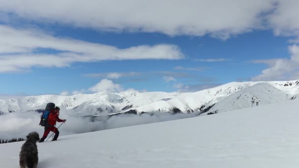
[[[80,0],[6,0],[0,3],[0,11],[22,19],[108,31],[211,34],[225,39],[263,28],[265,18],[261,14],[273,9],[276,1],[89,0],[82,3]]]

